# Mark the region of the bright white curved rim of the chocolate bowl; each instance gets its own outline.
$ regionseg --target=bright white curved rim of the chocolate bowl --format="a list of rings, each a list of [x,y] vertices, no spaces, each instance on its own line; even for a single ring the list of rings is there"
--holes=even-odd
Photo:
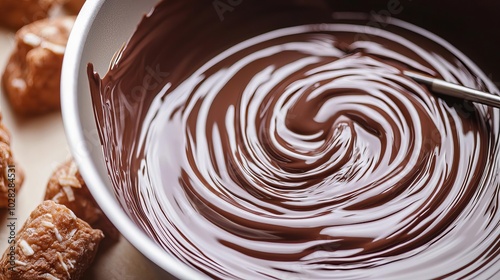
[[[64,94],[61,94],[61,111],[70,151],[82,177],[87,182],[91,194],[102,211],[141,254],[175,277],[205,279],[206,277],[202,276],[200,272],[168,254],[140,230],[118,204],[116,198],[107,190],[104,180],[109,179],[100,177],[91,157],[78,156],[82,152],[86,155],[90,154],[90,149],[85,144],[88,140],[85,138],[81,125],[81,110],[78,105],[79,75],[82,71],[86,73],[87,67],[86,63],[82,63],[82,54],[90,29],[104,3],[105,0],[85,2],[69,36],[64,55],[61,74],[61,93]],[[99,148],[101,148],[100,143]]]

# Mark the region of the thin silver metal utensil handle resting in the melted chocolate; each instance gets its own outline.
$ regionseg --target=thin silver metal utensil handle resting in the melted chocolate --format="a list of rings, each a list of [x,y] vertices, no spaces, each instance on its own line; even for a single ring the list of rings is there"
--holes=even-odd
[[[500,108],[500,96],[498,95],[453,84],[412,71],[403,71],[403,74],[419,83],[429,86],[432,91],[437,93]]]

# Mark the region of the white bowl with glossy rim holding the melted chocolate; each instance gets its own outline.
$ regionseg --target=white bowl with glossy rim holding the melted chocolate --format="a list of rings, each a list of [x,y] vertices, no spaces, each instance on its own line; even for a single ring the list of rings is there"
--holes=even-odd
[[[132,36],[157,0],[87,1],[73,27],[64,57],[61,104],[71,152],[104,213],[147,258],[182,279],[205,278],[153,242],[123,211],[104,165],[90,98],[87,64],[104,75],[113,54]]]

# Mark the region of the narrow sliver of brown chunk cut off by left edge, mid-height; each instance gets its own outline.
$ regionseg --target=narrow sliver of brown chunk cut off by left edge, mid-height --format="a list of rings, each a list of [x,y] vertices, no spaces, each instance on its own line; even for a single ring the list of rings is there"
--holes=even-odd
[[[24,180],[23,170],[16,165],[10,149],[10,133],[0,114],[0,208],[7,208],[9,199],[15,204],[15,193]]]

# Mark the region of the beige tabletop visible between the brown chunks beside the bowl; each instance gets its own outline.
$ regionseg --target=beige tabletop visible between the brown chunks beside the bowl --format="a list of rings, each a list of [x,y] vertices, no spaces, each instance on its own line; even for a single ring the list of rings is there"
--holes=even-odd
[[[0,72],[14,47],[14,33],[0,28]],[[12,135],[13,154],[26,173],[16,198],[17,230],[40,203],[45,186],[55,168],[71,157],[60,112],[23,119],[13,114],[3,89],[0,89],[0,112]],[[7,214],[0,210],[0,252],[7,248]],[[117,244],[100,250],[84,279],[171,279],[168,274],[142,256],[123,237]]]

